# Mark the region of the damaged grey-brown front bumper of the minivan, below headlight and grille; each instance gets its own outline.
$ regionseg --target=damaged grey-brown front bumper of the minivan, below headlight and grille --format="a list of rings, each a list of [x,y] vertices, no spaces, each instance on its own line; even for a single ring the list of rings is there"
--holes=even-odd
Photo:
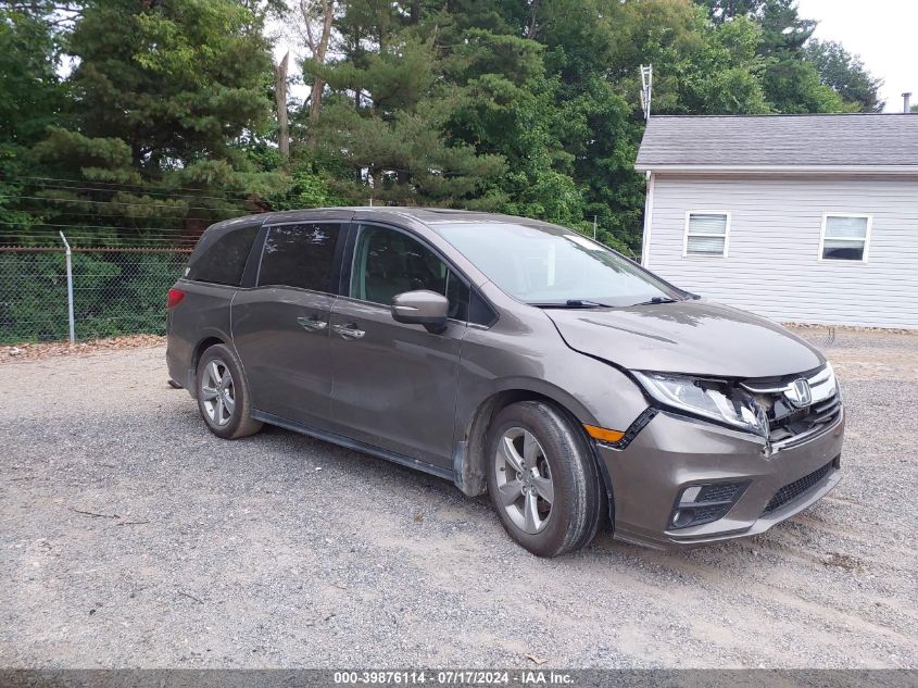
[[[612,480],[615,537],[672,548],[767,530],[818,501],[841,479],[844,423],[842,411],[818,435],[768,454],[764,439],[658,413],[625,449],[598,446]],[[813,475],[818,479],[806,479]],[[671,526],[676,500],[686,487],[743,481],[749,487],[721,518],[686,528]],[[794,485],[806,489],[790,489]],[[782,496],[791,498],[774,508],[772,499],[784,487],[789,490]]]

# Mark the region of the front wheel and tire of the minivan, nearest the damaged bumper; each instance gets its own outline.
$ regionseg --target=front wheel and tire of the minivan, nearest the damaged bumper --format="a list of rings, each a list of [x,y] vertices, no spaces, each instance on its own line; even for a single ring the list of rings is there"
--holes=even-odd
[[[603,488],[587,438],[567,414],[541,401],[512,404],[491,423],[486,447],[491,504],[514,540],[539,556],[589,545]]]

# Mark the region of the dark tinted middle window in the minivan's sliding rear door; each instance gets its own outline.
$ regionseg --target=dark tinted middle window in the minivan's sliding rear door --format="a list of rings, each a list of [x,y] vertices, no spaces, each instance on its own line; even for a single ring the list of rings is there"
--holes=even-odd
[[[280,285],[329,291],[340,225],[299,224],[268,229],[259,286]]]

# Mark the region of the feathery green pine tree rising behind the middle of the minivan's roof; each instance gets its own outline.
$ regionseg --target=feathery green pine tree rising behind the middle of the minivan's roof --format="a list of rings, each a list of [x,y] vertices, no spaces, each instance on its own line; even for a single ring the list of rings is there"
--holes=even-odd
[[[457,95],[438,79],[433,43],[411,16],[393,3],[348,3],[338,26],[344,59],[310,65],[330,90],[319,154],[349,171],[336,188],[355,202],[460,204],[499,177],[503,161],[447,136]]]

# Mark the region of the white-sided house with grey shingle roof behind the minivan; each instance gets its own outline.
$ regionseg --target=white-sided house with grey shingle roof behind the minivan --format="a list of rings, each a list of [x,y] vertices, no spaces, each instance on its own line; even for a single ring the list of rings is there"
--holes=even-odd
[[[918,114],[652,116],[642,263],[780,322],[918,329]]]

